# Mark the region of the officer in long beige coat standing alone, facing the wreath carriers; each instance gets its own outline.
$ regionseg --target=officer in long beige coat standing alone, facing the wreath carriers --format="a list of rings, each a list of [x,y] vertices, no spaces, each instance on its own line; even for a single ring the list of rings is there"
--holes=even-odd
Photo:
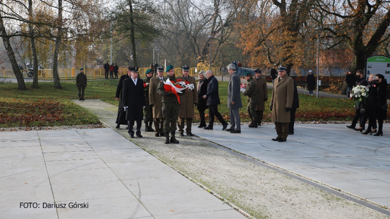
[[[290,111],[294,95],[294,81],[287,73],[286,67],[279,67],[279,77],[273,84],[270,109],[272,121],[275,122],[277,137],[274,141],[283,142],[289,135]]]

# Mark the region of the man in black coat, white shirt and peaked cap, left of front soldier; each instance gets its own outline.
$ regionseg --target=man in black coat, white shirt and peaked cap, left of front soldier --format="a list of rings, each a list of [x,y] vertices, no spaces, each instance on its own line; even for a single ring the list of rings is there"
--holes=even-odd
[[[131,138],[134,138],[134,121],[137,122],[136,135],[141,136],[141,125],[143,119],[143,109],[145,108],[145,94],[143,80],[138,79],[138,67],[129,68],[131,77],[123,82],[123,108],[126,111],[128,133]]]

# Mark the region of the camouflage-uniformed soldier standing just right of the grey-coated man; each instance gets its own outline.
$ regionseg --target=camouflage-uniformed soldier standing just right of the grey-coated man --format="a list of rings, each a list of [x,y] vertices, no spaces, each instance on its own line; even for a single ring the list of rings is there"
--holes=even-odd
[[[257,92],[257,84],[253,80],[253,75],[251,72],[246,72],[244,74],[245,80],[248,81],[247,87],[245,92],[243,93],[244,96],[248,96],[248,107],[247,111],[249,114],[249,117],[252,119],[251,124],[249,125],[250,128],[257,128],[257,113],[256,113],[256,105],[257,101],[259,99],[259,94]]]

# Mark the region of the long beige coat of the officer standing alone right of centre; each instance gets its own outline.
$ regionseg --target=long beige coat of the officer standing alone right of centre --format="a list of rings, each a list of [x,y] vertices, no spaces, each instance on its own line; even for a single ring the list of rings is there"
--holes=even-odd
[[[293,96],[294,80],[292,78],[286,74],[280,81],[279,77],[274,80],[270,104],[273,106],[273,122],[290,122],[290,112],[286,111],[286,107],[291,108]]]

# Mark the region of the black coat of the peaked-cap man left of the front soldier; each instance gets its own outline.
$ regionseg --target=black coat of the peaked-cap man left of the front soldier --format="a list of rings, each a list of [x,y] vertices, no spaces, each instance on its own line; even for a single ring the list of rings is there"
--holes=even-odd
[[[146,105],[144,92],[142,79],[137,80],[137,85],[134,84],[132,78],[123,81],[122,104],[128,107],[126,109],[126,120],[140,121],[143,119],[142,107]]]

